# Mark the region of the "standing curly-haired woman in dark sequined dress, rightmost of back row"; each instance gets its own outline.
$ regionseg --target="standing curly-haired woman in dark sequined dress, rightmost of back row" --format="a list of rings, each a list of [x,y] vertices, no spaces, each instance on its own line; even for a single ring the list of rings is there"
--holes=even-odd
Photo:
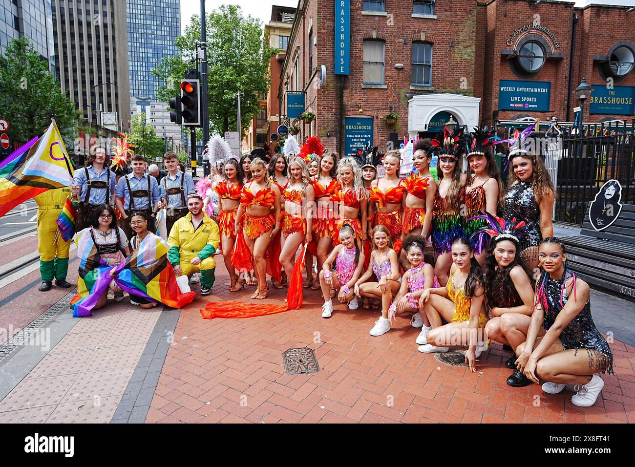
[[[505,219],[524,220],[527,224],[520,239],[521,255],[530,269],[538,267],[538,245],[554,234],[551,215],[556,189],[542,156],[530,154],[524,142],[535,125],[509,140],[509,174],[502,208]]]

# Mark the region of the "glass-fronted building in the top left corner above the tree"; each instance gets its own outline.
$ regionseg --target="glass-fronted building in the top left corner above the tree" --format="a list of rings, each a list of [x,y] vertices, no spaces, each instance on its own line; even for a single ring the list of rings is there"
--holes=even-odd
[[[0,53],[11,39],[28,37],[55,74],[51,0],[0,0]]]

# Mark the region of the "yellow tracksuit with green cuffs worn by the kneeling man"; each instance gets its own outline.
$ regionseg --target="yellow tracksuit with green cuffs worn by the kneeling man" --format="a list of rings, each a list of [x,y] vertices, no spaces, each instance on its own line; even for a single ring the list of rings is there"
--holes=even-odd
[[[220,243],[218,224],[203,214],[203,222],[194,231],[192,213],[187,213],[174,223],[168,236],[170,251],[168,260],[172,266],[180,264],[185,276],[201,273],[201,287],[211,288],[215,281],[216,261],[214,254]],[[191,264],[194,257],[199,257],[199,264]]]

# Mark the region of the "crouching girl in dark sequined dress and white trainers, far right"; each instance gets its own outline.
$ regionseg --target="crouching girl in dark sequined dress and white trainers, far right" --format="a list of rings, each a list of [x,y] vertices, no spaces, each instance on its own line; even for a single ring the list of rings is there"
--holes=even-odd
[[[604,387],[598,374],[613,373],[613,353],[593,322],[589,285],[566,267],[566,247],[558,238],[545,238],[538,257],[544,273],[516,365],[531,382],[544,382],[545,393],[573,388],[573,405],[591,407]]]

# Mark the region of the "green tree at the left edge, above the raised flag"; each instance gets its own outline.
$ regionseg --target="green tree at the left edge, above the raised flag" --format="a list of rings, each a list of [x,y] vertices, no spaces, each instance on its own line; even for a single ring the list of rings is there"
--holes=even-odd
[[[48,62],[29,39],[11,39],[0,55],[0,118],[10,123],[11,140],[25,143],[43,133],[55,115],[60,132],[75,133],[78,112],[48,71]]]

